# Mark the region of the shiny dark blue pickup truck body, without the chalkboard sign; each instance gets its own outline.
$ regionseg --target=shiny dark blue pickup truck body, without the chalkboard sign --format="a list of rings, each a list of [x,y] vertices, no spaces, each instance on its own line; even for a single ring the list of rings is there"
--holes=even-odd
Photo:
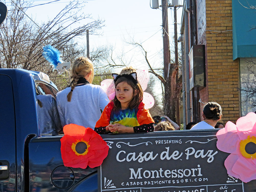
[[[63,135],[40,129],[37,95],[58,92],[49,77],[0,69],[0,82],[0,191],[98,191],[97,168],[63,166]]]

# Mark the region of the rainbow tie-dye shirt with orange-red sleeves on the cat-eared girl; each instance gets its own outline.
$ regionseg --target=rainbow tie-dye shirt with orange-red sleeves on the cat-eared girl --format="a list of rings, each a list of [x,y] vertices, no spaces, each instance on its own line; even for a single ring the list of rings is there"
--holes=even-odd
[[[127,127],[134,127],[144,124],[154,123],[149,111],[141,102],[136,109],[113,110],[114,103],[111,101],[103,110],[100,119],[95,127],[105,127],[110,123],[119,123]]]

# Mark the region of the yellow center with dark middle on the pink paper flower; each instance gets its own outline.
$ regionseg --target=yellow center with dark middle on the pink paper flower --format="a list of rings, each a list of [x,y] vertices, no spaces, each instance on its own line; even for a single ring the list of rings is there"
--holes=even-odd
[[[240,141],[240,152],[246,158],[256,159],[256,138],[248,136]]]

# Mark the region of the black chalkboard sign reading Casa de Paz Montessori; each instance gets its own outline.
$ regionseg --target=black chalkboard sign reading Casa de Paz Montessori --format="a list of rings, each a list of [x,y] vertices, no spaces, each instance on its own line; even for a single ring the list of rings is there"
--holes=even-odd
[[[98,167],[99,192],[255,191],[224,166],[217,130],[101,135],[109,153]]]

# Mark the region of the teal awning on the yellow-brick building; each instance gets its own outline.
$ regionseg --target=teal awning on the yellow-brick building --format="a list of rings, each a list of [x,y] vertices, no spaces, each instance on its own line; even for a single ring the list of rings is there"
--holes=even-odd
[[[233,60],[256,57],[256,1],[232,0],[232,22]]]

